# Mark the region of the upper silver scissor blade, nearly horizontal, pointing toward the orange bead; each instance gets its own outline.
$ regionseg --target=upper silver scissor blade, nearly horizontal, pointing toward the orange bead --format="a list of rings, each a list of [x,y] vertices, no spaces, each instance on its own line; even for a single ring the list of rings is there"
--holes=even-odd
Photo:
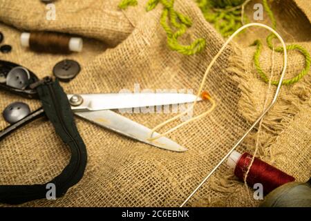
[[[70,99],[73,95],[67,95]],[[196,95],[185,93],[108,93],[79,95],[83,102],[72,106],[73,110],[101,111],[123,108],[162,106],[169,104],[191,103]],[[201,100],[198,98],[198,101]]]

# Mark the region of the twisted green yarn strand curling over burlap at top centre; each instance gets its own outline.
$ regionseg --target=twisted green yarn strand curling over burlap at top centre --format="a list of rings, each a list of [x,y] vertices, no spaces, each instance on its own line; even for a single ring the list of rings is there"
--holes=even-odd
[[[169,48],[180,52],[182,55],[194,55],[201,52],[205,48],[205,39],[196,39],[190,45],[182,45],[178,42],[178,38],[185,34],[192,22],[189,17],[173,9],[174,0],[149,0],[146,7],[147,12],[156,8],[159,3],[162,3],[163,6],[160,24],[167,33]],[[122,0],[119,8],[124,9],[128,6],[135,6],[135,4],[137,4],[136,0]]]

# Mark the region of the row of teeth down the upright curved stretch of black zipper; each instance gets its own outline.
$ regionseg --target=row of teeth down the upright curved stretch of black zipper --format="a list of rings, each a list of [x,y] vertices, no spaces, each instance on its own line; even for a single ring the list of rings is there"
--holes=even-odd
[[[77,173],[78,166],[79,166],[80,161],[81,161],[81,151],[79,149],[79,146],[77,145],[77,142],[75,141],[75,139],[73,139],[73,136],[70,134],[70,132],[68,131],[66,125],[64,124],[64,119],[63,119],[62,115],[59,114],[61,111],[59,110],[59,106],[57,106],[57,99],[55,97],[55,91],[54,91],[53,86],[51,84],[49,84],[49,83],[48,83],[48,90],[50,90],[50,94],[52,95],[53,104],[55,105],[55,109],[56,109],[56,112],[57,112],[57,117],[61,121],[62,128],[66,132],[68,137],[70,137],[70,139],[73,141],[73,144],[75,144],[75,147],[77,148],[78,160],[77,160],[77,163],[76,163],[76,166],[75,166],[75,173]],[[75,173],[70,175],[68,180],[70,180],[70,178],[73,177],[75,175]],[[63,184],[66,183],[66,182],[63,182]]]

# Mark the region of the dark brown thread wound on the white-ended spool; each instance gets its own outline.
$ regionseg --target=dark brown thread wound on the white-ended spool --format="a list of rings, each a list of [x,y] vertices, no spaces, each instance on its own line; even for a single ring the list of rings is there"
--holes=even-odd
[[[37,52],[70,53],[70,37],[51,32],[30,33],[29,47]]]

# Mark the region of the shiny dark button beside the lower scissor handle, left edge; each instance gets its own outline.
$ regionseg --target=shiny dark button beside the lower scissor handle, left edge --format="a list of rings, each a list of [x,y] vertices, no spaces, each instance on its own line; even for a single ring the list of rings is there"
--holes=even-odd
[[[22,102],[15,102],[6,107],[3,111],[3,118],[9,124],[15,124],[30,114],[30,108]]]

